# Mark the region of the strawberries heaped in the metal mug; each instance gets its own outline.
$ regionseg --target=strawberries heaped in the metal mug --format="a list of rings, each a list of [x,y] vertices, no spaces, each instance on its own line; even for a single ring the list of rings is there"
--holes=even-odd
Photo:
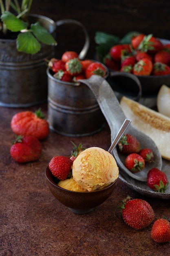
[[[94,74],[106,76],[104,65],[88,59],[80,60],[77,52],[64,52],[61,60],[51,58],[48,66],[56,79],[70,83],[79,79],[88,79]]]

